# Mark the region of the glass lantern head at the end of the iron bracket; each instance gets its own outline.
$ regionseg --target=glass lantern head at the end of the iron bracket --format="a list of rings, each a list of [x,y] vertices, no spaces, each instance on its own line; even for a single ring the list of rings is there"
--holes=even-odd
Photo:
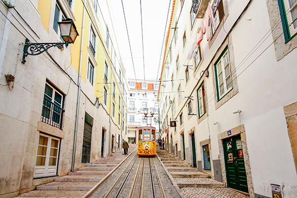
[[[74,43],[76,37],[78,36],[78,32],[72,19],[63,19],[61,22],[58,22],[58,24],[62,39],[69,44]]]

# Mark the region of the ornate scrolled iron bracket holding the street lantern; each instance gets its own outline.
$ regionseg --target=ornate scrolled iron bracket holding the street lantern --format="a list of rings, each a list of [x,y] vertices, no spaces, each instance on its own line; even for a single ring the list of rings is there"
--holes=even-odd
[[[67,47],[68,43],[30,43],[29,39],[26,39],[22,63],[25,64],[25,58],[28,55],[41,54],[51,47],[57,47],[58,49],[62,49],[63,45]]]

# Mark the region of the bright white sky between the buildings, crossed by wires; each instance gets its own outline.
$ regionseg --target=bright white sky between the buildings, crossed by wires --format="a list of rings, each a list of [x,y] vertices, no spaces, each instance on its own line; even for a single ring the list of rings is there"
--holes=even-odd
[[[172,10],[172,0],[110,0],[109,2],[111,5],[110,9],[112,12],[117,43],[124,67],[126,68],[126,78],[135,79],[133,70],[134,62],[137,79],[159,80],[164,56],[163,38],[165,32],[166,39],[168,31]],[[131,58],[122,2],[126,16],[133,62]],[[140,6],[140,3],[142,6]],[[169,20],[165,30],[167,15]],[[144,44],[142,41],[144,41]]]

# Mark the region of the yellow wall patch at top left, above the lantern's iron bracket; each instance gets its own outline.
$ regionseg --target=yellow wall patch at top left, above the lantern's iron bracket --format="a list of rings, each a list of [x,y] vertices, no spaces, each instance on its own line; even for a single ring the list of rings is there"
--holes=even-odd
[[[50,7],[51,7],[51,0],[38,1],[37,9],[40,13],[41,24],[44,26],[44,28],[47,31],[49,31]]]

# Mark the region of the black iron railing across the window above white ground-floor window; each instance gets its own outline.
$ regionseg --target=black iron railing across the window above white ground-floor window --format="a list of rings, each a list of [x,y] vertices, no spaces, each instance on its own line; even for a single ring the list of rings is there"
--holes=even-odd
[[[62,129],[64,109],[44,98],[41,121],[53,127]]]

